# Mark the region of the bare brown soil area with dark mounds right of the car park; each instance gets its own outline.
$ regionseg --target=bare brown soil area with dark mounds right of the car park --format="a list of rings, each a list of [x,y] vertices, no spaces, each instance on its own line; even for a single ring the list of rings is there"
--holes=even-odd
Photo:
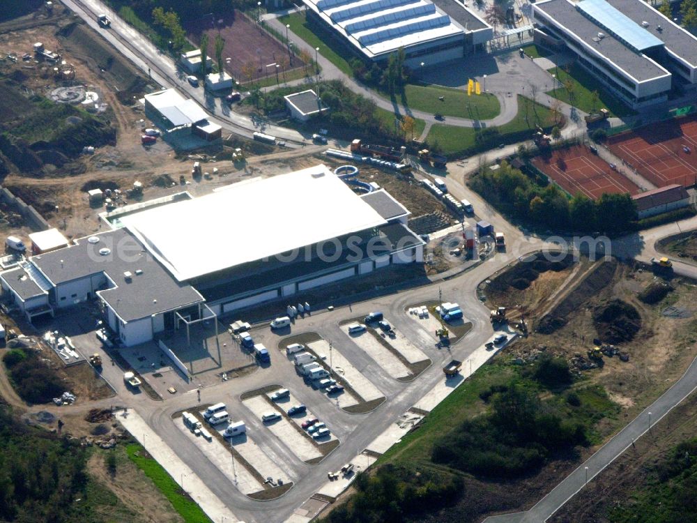
[[[603,434],[633,418],[697,355],[697,288],[691,282],[664,281],[642,266],[614,260],[581,258],[537,278],[527,265],[496,275],[480,292],[490,308],[506,306],[513,318],[525,315],[531,334],[511,349],[521,363],[542,351],[563,356],[623,407],[619,418],[602,421]],[[524,289],[516,288],[523,287],[521,276],[530,278]],[[615,351],[591,356],[595,347]]]

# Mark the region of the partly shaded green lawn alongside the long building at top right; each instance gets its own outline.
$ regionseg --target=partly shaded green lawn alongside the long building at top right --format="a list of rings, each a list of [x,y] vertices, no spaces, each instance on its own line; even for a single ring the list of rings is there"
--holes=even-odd
[[[549,73],[556,75],[561,84],[561,87],[547,91],[549,96],[553,96],[562,102],[573,105],[584,112],[592,112],[595,105],[595,109],[605,107],[611,112],[612,116],[622,117],[636,114],[636,112],[632,111],[627,105],[618,100],[618,98],[612,96],[602,82],[592,77],[581,68],[581,66],[573,64],[569,66],[568,69],[568,73],[563,68],[549,69]],[[571,82],[571,95],[569,95],[569,91],[565,86],[567,82]],[[598,93],[598,100],[595,104],[593,101],[593,91],[597,91]]]

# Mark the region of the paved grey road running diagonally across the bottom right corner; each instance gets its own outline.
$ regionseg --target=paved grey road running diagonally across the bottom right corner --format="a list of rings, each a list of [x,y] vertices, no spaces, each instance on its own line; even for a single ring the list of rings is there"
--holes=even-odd
[[[646,407],[629,425],[602,446],[595,454],[582,463],[527,512],[487,517],[485,523],[541,523],[548,520],[557,510],[572,499],[588,481],[595,478],[634,441],[650,430],[677,404],[697,389],[697,358],[687,368],[682,377],[658,400]]]

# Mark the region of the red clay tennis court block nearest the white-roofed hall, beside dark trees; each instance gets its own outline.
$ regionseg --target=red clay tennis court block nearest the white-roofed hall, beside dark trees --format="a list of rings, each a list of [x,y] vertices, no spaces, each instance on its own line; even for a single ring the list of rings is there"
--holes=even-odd
[[[629,192],[630,195],[639,192],[634,182],[611,169],[585,145],[552,151],[549,158],[537,156],[533,158],[533,165],[571,195],[581,192],[598,199],[604,192]]]

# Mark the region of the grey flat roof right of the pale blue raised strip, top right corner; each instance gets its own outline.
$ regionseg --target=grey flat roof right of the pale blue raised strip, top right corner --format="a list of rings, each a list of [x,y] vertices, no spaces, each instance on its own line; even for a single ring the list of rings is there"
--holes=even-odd
[[[649,22],[649,26],[645,28],[647,31],[663,40],[666,48],[677,56],[697,66],[697,38],[688,31],[673,24],[671,20],[641,0],[608,0],[608,3],[637,24]],[[661,31],[656,29],[657,26],[661,26]]]

